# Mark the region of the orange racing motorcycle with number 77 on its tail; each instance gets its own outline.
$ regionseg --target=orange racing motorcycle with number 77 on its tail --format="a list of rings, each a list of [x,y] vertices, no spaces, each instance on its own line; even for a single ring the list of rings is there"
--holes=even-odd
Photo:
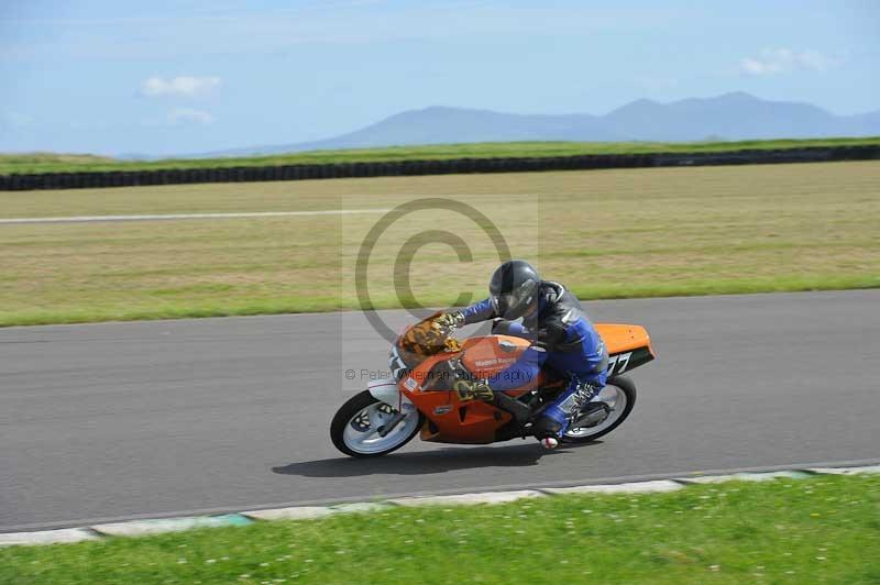
[[[407,327],[392,346],[391,376],[371,380],[336,413],[330,437],[341,452],[354,457],[385,455],[416,433],[436,443],[525,439],[531,437],[532,421],[544,405],[565,388],[565,379],[542,369],[535,379],[492,393],[491,398],[474,396],[462,379],[504,375],[530,342],[501,334],[459,341],[436,322],[440,314]],[[636,385],[625,373],[654,358],[645,328],[608,323],[595,328],[608,349],[608,380],[574,417],[563,443],[595,441],[619,427],[636,404]]]

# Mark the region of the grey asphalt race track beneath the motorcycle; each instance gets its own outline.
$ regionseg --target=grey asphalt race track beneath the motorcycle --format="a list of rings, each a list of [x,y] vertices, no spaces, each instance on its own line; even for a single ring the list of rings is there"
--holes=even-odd
[[[414,441],[373,461],[328,438],[382,368],[356,313],[0,330],[0,531],[414,493],[880,461],[880,291],[588,303],[648,328],[632,417],[602,442]],[[403,311],[384,313],[399,325]]]

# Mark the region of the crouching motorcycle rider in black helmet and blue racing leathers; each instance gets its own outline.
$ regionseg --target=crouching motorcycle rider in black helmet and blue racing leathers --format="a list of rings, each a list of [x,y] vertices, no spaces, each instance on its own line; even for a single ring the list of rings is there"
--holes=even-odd
[[[581,407],[605,386],[608,352],[578,298],[559,283],[541,280],[538,271],[521,260],[507,261],[495,271],[490,297],[438,318],[452,330],[468,323],[495,319],[493,333],[531,340],[519,358],[492,379],[464,382],[474,394],[486,388],[501,391],[535,379],[547,367],[568,380],[565,389],[538,413],[535,437],[546,449],[559,444]],[[522,322],[515,321],[522,318]]]

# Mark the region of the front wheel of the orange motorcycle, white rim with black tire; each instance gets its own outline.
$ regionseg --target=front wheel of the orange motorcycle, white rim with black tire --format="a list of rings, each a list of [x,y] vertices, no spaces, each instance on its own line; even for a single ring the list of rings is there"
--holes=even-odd
[[[349,399],[330,423],[330,438],[337,449],[353,457],[377,457],[400,449],[421,428],[422,416],[413,410],[385,437],[383,427],[397,415],[397,409],[364,390]]]

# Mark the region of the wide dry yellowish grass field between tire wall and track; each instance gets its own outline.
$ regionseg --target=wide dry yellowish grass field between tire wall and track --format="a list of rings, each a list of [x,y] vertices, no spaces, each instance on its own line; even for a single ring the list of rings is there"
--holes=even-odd
[[[387,209],[466,201],[512,254],[583,299],[880,287],[880,163],[618,169],[0,194],[4,217]],[[382,217],[0,225],[0,325],[356,308],[354,257]],[[370,291],[394,288],[404,241],[460,235],[414,257],[413,295],[485,295],[497,264],[471,220],[421,211],[377,242]]]

